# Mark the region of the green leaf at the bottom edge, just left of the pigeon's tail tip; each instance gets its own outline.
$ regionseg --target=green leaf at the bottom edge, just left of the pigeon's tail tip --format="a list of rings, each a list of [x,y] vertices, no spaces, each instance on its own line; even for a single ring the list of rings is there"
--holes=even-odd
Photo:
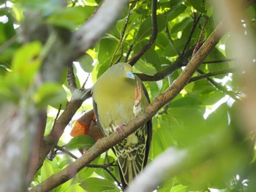
[[[80,187],[88,192],[102,192],[116,189],[116,185],[108,180],[102,180],[97,177],[91,177],[84,180]]]

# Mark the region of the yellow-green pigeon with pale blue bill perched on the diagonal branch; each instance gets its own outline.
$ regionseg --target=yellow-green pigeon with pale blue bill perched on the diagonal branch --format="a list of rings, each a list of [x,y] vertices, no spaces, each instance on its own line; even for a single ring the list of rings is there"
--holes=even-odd
[[[92,93],[97,122],[105,136],[114,131],[123,133],[121,126],[142,112],[150,102],[143,82],[132,73],[132,66],[127,63],[111,66],[95,82]],[[149,120],[113,147],[123,189],[146,166],[151,134]]]

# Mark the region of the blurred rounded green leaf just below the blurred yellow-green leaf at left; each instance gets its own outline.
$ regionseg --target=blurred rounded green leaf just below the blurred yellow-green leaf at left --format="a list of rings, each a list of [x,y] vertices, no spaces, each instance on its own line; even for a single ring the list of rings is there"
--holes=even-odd
[[[60,104],[62,107],[65,107],[67,103],[67,93],[58,83],[45,82],[34,94],[34,101],[39,108],[50,104],[58,109]]]

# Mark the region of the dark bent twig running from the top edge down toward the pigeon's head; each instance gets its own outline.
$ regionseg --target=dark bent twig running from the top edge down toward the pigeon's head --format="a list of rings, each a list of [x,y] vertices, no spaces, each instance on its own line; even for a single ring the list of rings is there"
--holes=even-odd
[[[142,49],[129,60],[129,64],[133,66],[140,57],[146,53],[146,51],[153,45],[154,41],[157,39],[157,0],[151,1],[151,20],[152,20],[152,34],[146,45],[142,47]]]

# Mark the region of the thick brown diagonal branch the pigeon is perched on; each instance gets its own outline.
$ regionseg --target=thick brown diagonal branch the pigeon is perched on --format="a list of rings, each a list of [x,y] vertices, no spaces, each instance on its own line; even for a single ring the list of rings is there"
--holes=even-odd
[[[189,82],[192,74],[194,74],[198,69],[203,59],[206,58],[208,53],[211,52],[211,49],[217,45],[217,42],[219,42],[219,39],[221,39],[222,35],[224,34],[224,28],[225,23],[219,23],[219,26],[217,26],[211,36],[206,39],[206,42],[202,45],[202,47],[200,47],[197,53],[195,53],[192,60],[189,61],[189,64],[187,64],[184,71],[177,78],[177,80],[173,82],[170,88],[168,88],[165,93],[159,94],[159,96],[157,96],[157,98],[146,108],[145,112],[140,113],[140,115],[132,118],[132,120],[127,123],[127,126],[123,128],[126,136],[132,134],[132,132],[138,127],[142,126],[144,122],[153,117],[161,107],[173,99],[184,88],[184,86],[187,85],[187,82]],[[82,157],[78,158],[77,161],[67,166],[66,169],[61,170],[61,172],[49,177],[48,180],[40,183],[31,191],[50,191],[50,189],[61,185],[61,183],[64,183],[70,178],[74,177],[75,174],[80,171],[80,169],[83,169],[83,167],[93,161],[94,158],[97,158],[97,156],[99,156],[101,153],[110,149],[110,147],[113,147],[118,142],[121,142],[122,139],[124,139],[123,135],[116,132],[110,134],[108,137],[99,139],[97,143],[86,151]]]

